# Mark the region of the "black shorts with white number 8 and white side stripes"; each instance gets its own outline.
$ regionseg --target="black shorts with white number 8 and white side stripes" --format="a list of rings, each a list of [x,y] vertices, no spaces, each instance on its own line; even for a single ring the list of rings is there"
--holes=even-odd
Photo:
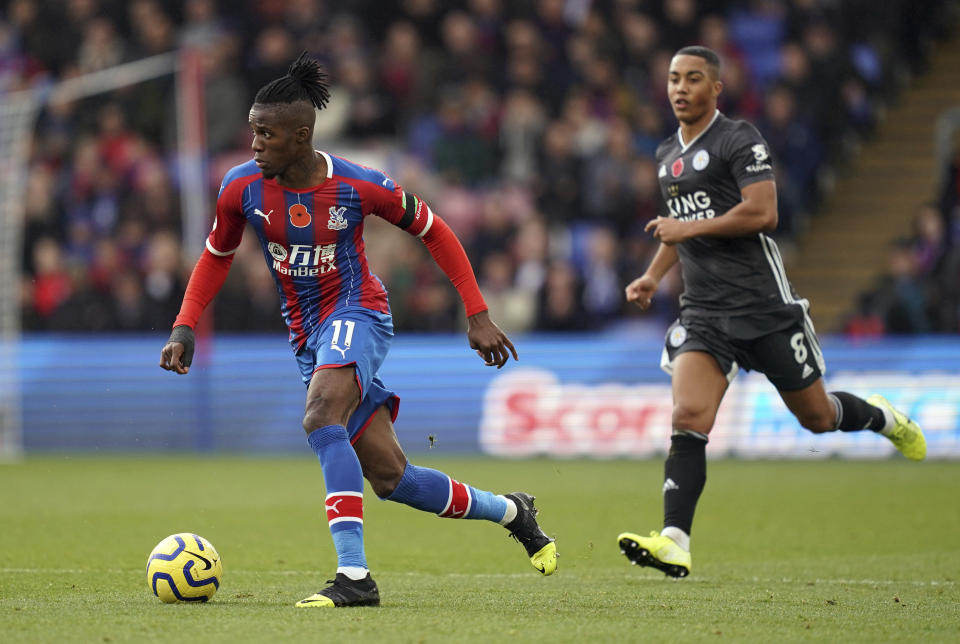
[[[660,367],[673,374],[673,361],[685,351],[712,355],[732,382],[740,369],[759,371],[780,391],[796,391],[826,373],[820,342],[798,300],[765,313],[736,316],[684,316],[670,325]]]

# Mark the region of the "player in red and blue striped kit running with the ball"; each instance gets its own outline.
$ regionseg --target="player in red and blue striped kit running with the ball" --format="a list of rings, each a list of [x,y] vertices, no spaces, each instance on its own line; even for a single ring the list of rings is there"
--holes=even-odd
[[[298,607],[376,606],[380,593],[363,547],[363,479],[381,499],[441,517],[504,525],[544,575],[557,567],[533,497],[496,495],[407,461],[393,429],[399,398],[377,377],[393,338],[387,293],[367,267],[363,220],[377,215],[421,239],[466,307],[470,347],[488,366],[517,352],[490,319],[459,240],[423,201],[383,172],[312,146],[315,109],[329,100],[319,63],[301,54],[257,93],[253,159],[227,172],[216,220],[183,297],[160,366],[185,374],[193,328],[223,285],[249,225],[281,296],[307,399],[303,428],[323,471],[337,552],[331,585]]]

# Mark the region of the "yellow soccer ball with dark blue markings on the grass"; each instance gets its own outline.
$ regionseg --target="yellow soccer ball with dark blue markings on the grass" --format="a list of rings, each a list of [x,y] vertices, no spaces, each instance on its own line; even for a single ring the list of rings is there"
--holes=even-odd
[[[216,548],[189,532],[170,535],[147,559],[147,584],[166,604],[205,602],[216,594],[222,577]]]

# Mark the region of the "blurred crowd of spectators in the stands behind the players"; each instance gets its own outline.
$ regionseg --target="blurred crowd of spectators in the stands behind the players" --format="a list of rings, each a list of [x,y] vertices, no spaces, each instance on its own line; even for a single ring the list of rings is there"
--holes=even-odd
[[[460,236],[505,329],[599,329],[639,314],[623,287],[655,250],[643,226],[661,207],[654,151],[676,128],[666,100],[676,49],[703,44],[723,56],[721,109],[771,145],[777,238],[789,250],[832,170],[923,72],[946,4],[8,0],[0,92],[199,50],[212,217],[223,173],[250,156],[255,92],[307,50],[333,85],[316,145],[370,160],[425,198]],[[182,239],[174,89],[163,77],[40,113],[25,204],[26,329],[169,328],[196,259],[184,247],[202,247]],[[957,280],[938,277],[957,275],[958,164],[851,332],[958,329]],[[214,325],[282,328],[272,278],[246,237]],[[374,222],[367,238],[398,328],[462,322],[455,291],[415,240]],[[677,281],[646,315],[675,315]],[[940,310],[947,295],[952,311]]]

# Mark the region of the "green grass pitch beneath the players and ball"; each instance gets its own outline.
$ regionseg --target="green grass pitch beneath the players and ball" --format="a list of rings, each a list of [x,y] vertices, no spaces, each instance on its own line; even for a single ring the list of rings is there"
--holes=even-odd
[[[418,459],[537,495],[560,568],[496,525],[376,500],[383,606],[298,610],[335,556],[309,458],[31,458],[0,466],[0,640],[957,641],[958,464],[711,462],[682,581],[615,545],[661,517],[659,461]],[[144,566],[191,531],[224,562],[208,604],[164,605]]]

